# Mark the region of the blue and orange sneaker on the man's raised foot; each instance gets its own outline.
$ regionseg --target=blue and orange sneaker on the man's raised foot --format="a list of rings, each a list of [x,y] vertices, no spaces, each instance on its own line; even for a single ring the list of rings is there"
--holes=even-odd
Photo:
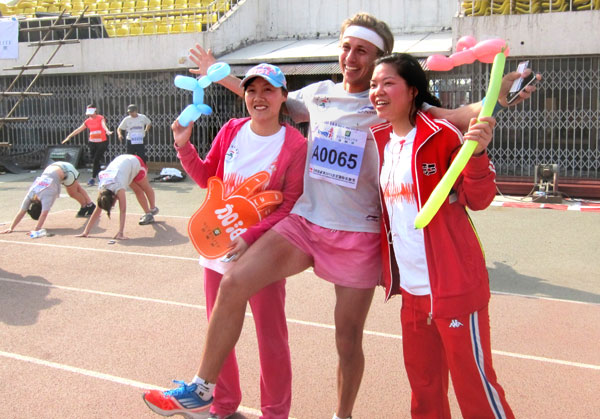
[[[162,416],[182,415],[188,418],[208,418],[212,397],[203,400],[196,389],[196,384],[186,384],[184,381],[173,380],[179,387],[173,390],[148,390],[142,396],[144,402],[155,413]]]

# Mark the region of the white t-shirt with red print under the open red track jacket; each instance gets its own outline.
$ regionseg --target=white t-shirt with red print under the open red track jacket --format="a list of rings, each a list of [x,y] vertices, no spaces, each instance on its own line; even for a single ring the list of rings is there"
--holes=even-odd
[[[429,295],[429,270],[423,229],[415,229],[418,208],[412,178],[412,149],[417,130],[406,137],[392,133],[385,145],[379,181],[390,217],[394,256],[400,271],[400,286],[413,295]]]

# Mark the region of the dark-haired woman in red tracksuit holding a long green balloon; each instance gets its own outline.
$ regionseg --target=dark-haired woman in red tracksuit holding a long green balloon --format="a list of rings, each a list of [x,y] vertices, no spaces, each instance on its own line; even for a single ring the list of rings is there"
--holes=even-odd
[[[471,121],[464,139],[474,156],[423,230],[418,211],[447,171],[463,136],[420,111],[436,103],[424,71],[407,54],[377,61],[370,100],[386,123],[371,128],[379,151],[386,298],[402,293],[404,364],[413,418],[450,418],[448,371],[464,418],[512,418],[492,367],[483,250],[466,208],[482,210],[495,194],[486,147],[493,118]]]

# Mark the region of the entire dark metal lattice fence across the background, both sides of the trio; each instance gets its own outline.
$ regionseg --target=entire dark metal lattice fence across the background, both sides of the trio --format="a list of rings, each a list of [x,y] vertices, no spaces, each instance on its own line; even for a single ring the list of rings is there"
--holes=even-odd
[[[507,71],[517,67],[518,59],[507,60]],[[534,96],[514,108],[501,112],[490,145],[490,155],[499,175],[532,176],[540,163],[556,163],[560,175],[571,178],[600,179],[600,57],[545,57],[533,59],[531,67],[543,80]],[[480,100],[488,84],[490,65],[475,63],[444,73],[431,73],[432,89],[446,107],[457,107]],[[128,74],[45,75],[36,90],[52,92],[50,97],[26,98],[15,116],[28,116],[28,122],[5,125],[0,141],[13,144],[0,153],[32,153],[57,145],[81,125],[88,103],[95,103],[115,129],[126,115],[127,105],[136,103],[152,121],[147,154],[150,161],[176,162],[170,124],[191,101],[191,94],[175,88],[173,78],[179,71],[136,72]],[[326,77],[326,76],[323,76]],[[304,76],[289,76],[292,89],[302,86]],[[10,83],[0,79],[0,89]],[[29,80],[24,78],[23,88]],[[0,102],[0,113],[9,109],[10,98]],[[202,116],[194,130],[193,142],[201,154],[219,128],[232,117],[245,114],[243,101],[221,86],[206,91],[206,103],[214,113]],[[86,144],[80,134],[72,140]],[[113,134],[108,159],[125,151]]]

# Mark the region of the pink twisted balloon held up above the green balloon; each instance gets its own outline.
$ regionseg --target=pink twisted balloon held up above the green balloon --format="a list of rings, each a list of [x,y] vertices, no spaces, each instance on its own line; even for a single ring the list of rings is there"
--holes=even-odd
[[[508,45],[504,39],[488,39],[477,42],[472,36],[463,36],[456,43],[456,52],[449,57],[434,54],[427,58],[427,67],[433,71],[448,71],[463,64],[471,64],[475,60],[491,64],[499,52],[508,56]]]

